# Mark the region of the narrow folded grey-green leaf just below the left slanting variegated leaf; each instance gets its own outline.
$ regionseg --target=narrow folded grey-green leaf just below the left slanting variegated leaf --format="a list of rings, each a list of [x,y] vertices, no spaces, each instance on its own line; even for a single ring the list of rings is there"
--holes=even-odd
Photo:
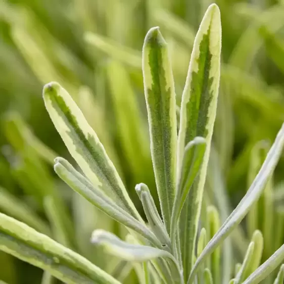
[[[143,235],[155,246],[161,247],[161,243],[152,231],[115,204],[97,187],[93,186],[84,176],[76,171],[68,161],[60,157],[56,158],[54,169],[61,179],[91,204],[98,207],[114,220]]]

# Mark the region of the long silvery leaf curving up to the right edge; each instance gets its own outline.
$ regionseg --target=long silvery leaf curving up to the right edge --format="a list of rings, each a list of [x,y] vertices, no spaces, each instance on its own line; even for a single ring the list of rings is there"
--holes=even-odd
[[[260,197],[263,188],[273,172],[282,152],[284,143],[284,124],[279,130],[274,144],[269,150],[267,157],[257,174],[255,180],[250,186],[247,194],[241,200],[239,205],[234,209],[234,211],[230,214],[224,224],[220,227],[218,232],[214,235],[214,237],[207,244],[206,248],[197,259],[193,270],[191,272],[190,278],[188,279],[188,284],[191,284],[194,280],[194,275],[196,273],[197,268],[203,263],[208,255],[210,255],[216,247],[218,247],[221,242],[230,234],[230,232],[243,220],[251,206],[258,200]]]

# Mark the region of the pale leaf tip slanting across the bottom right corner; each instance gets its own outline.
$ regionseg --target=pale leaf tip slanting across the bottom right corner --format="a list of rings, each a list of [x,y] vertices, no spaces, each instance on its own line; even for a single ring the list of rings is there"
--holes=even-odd
[[[257,284],[268,276],[284,260],[284,245],[282,245],[269,259],[259,266],[243,284]]]

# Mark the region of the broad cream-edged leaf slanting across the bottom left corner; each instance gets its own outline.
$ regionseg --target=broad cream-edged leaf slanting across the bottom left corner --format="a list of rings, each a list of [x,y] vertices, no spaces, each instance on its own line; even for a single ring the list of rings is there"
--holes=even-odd
[[[119,284],[82,256],[1,213],[0,250],[50,272],[65,283]]]

